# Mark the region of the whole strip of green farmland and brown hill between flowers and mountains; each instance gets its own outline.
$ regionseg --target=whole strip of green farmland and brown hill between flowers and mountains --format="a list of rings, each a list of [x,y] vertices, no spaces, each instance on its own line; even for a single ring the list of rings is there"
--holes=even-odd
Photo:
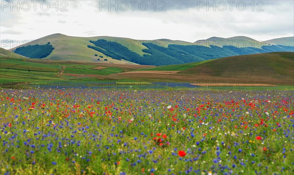
[[[294,85],[294,52],[224,57],[168,66],[43,60],[0,56],[0,79],[13,82],[100,80]]]

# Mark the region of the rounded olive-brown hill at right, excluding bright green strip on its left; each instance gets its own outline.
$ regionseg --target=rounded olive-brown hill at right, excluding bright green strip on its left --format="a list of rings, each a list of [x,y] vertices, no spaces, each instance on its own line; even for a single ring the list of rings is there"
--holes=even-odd
[[[294,52],[232,56],[205,62],[178,74],[214,77],[288,79],[294,83]],[[294,84],[293,84],[294,85]]]

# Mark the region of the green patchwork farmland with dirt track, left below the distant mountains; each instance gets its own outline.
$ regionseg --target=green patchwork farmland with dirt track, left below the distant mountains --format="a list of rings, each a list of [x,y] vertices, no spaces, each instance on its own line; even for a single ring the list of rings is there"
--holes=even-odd
[[[0,56],[0,80],[1,83],[56,80],[67,82],[87,80],[87,78],[93,78],[94,81],[97,81],[99,78],[103,78],[102,75],[147,67],[150,66]]]

